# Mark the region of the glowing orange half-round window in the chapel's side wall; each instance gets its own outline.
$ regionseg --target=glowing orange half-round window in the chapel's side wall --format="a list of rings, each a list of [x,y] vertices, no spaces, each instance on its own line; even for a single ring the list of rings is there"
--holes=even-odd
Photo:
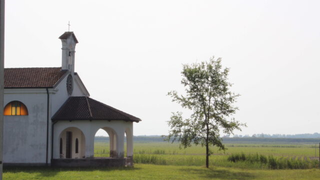
[[[3,115],[27,115],[28,109],[26,106],[17,100],[7,103],[3,110]]]

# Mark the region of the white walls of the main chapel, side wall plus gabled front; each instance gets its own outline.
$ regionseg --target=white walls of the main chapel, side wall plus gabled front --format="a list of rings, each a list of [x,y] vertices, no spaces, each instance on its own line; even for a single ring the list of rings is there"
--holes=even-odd
[[[48,163],[51,158],[51,117],[69,97],[66,91],[66,78],[49,88],[48,121]],[[83,96],[78,82],[73,80],[72,96]],[[45,163],[46,157],[46,123],[47,92],[45,88],[5,89],[4,105],[18,100],[25,104],[28,115],[4,116],[4,163]],[[79,154],[78,154],[79,155]]]

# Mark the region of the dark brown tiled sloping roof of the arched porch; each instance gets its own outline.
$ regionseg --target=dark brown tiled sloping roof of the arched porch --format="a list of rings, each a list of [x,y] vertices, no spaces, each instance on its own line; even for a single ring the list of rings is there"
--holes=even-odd
[[[141,119],[86,96],[69,97],[52,116],[56,120],[125,120]]]

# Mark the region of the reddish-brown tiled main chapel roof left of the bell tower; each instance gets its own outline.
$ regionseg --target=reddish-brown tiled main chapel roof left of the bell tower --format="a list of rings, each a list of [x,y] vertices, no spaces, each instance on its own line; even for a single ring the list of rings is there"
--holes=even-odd
[[[4,88],[53,87],[67,71],[61,67],[4,68]]]

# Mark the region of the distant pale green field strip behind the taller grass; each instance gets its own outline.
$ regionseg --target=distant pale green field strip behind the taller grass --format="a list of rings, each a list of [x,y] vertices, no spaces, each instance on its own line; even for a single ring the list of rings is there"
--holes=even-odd
[[[314,144],[234,144],[226,143],[227,150],[225,152],[218,151],[217,148],[213,148],[214,155],[229,155],[232,153],[256,153],[263,155],[284,155],[284,156],[314,156],[315,149]],[[105,142],[95,142],[94,143],[94,155],[104,156],[109,153],[109,144]],[[134,143],[134,154],[156,154],[161,152],[161,154],[204,154],[205,149],[201,146],[191,146],[186,149],[179,149],[178,143],[168,143],[168,142],[138,142]],[[318,155],[318,149],[316,155]]]

